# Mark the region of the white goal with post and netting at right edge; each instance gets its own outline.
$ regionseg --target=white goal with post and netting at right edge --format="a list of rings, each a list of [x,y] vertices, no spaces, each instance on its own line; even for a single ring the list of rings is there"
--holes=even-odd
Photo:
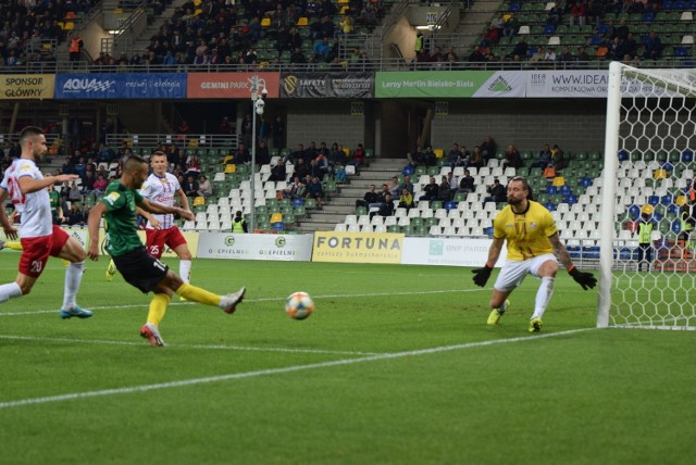
[[[696,329],[695,86],[694,70],[610,65],[598,327]]]

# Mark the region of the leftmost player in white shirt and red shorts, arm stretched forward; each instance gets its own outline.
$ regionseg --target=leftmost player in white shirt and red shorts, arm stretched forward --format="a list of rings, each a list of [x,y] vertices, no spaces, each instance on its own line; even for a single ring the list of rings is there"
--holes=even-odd
[[[58,175],[45,178],[41,175],[36,166],[36,160],[46,153],[48,148],[46,136],[40,128],[25,127],[20,134],[20,147],[22,148],[20,159],[12,162],[0,184],[0,205],[4,205],[10,198],[15,211],[22,217],[20,225],[22,256],[14,282],[0,286],[0,302],[29,293],[38,277],[41,276],[49,255],[58,256],[70,262],[65,271],[63,307],[60,316],[61,318],[73,316],[88,318],[92,313],[80,309],[76,302],[85,268],[85,249],[76,239],[53,225],[47,189],[54,183],[71,181],[78,176]],[[0,224],[8,238],[17,238],[17,230],[1,208]]]

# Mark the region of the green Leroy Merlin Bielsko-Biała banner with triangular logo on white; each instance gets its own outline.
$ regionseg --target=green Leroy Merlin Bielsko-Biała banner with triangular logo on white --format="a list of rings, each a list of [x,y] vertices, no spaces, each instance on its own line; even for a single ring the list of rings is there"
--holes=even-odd
[[[515,71],[378,72],[376,98],[524,97],[525,74]]]

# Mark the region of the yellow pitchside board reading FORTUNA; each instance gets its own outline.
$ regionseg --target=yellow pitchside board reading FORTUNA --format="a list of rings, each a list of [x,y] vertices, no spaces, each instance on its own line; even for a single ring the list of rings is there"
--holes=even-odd
[[[314,232],[312,262],[401,263],[402,234]]]

